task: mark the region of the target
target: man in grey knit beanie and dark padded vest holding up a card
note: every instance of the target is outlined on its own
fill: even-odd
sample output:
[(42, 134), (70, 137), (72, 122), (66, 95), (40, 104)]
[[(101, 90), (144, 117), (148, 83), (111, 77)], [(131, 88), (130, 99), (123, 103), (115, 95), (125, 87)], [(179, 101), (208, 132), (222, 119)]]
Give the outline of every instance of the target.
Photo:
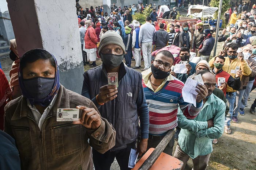
[[(137, 152), (142, 155), (147, 149), (149, 117), (142, 75), (123, 63), (125, 45), (115, 31), (102, 35), (98, 51), (102, 65), (84, 73), (82, 95), (93, 101), (117, 135), (116, 145), (105, 154), (93, 149), (95, 170), (109, 170), (115, 157), (120, 169), (128, 170), (129, 154), (136, 149), (139, 135)], [(108, 85), (108, 73), (118, 73), (118, 86)]]

